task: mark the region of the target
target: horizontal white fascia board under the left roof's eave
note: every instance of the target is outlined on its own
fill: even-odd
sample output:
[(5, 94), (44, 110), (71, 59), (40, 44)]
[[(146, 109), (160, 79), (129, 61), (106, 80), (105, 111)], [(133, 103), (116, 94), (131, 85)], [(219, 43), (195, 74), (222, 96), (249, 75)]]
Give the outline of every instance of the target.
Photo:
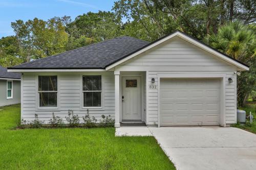
[(8, 72), (102, 72), (105, 69), (8, 69)]

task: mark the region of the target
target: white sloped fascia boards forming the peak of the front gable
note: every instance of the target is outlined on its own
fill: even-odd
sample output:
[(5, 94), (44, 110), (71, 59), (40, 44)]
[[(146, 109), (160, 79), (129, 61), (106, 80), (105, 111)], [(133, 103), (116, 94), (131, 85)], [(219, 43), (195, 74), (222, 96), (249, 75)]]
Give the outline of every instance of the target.
[(235, 66), (237, 66), (241, 70), (249, 70), (249, 67), (247, 67), (247, 66), (245, 66), (245, 65), (243, 65), (243, 64), (241, 64), (241, 63), (239, 63), (237, 61), (234, 61), (234, 60), (228, 58), (227, 56), (225, 56), (225, 55), (223, 55), (223, 54), (221, 54), (221, 53), (219, 53), (219, 52), (217, 52), (215, 50), (212, 50), (210, 47), (208, 47), (208, 46), (206, 46), (206, 45), (204, 45), (204, 44), (202, 44), (202, 43), (200, 43), (200, 42), (198, 42), (198, 41), (196, 41), (196, 40), (194, 40), (194, 39), (192, 39), (192, 38), (190, 38), (190, 37), (188, 37), (188, 36), (186, 36), (186, 35), (184, 35), (184, 34), (182, 34), (180, 32), (176, 32), (174, 34), (171, 34), (171, 35), (169, 35), (169, 36), (167, 36), (167, 37), (165, 37), (165, 38), (163, 38), (163, 39), (161, 39), (161, 40), (159, 40), (159, 41), (157, 41), (157, 42), (155, 42), (155, 43), (153, 43), (151, 45), (148, 45), (147, 47), (143, 48), (142, 50), (140, 50), (140, 51), (138, 51), (138, 52), (136, 52), (136, 53), (134, 53), (134, 54), (132, 54), (130, 56), (127, 56), (124, 59), (122, 59), (122, 60), (120, 60), (120, 61), (118, 61), (116, 63), (113, 63), (112, 65), (106, 67), (106, 70), (114, 68), (115, 66), (117, 66), (117, 65), (119, 65), (119, 64), (121, 64), (121, 63), (123, 63), (123, 62), (125, 62), (127, 60), (130, 60), (133, 57), (138, 56), (139, 54), (141, 54), (141, 53), (143, 53), (143, 52), (145, 52), (147, 50), (150, 50), (151, 48), (153, 48), (153, 47), (155, 47), (155, 46), (157, 46), (157, 45), (159, 45), (159, 44), (161, 44), (161, 43), (163, 43), (163, 42), (165, 42), (165, 41), (167, 41), (170, 38), (173, 38), (175, 36), (178, 36), (178, 37), (180, 37), (180, 38), (182, 38), (182, 39), (184, 39), (184, 40), (186, 40), (186, 41), (188, 41), (188, 42), (190, 42), (190, 43), (192, 43), (192, 44), (202, 48), (203, 50), (205, 50), (205, 51), (207, 51), (207, 52), (209, 52), (209, 53), (211, 53), (211, 54), (213, 54), (213, 55), (215, 55), (215, 56), (217, 56), (217, 57), (219, 57), (219, 58), (221, 58), (221, 59), (223, 59), (223, 60), (225, 60), (225, 61), (227, 61), (227, 62), (229, 62), (229, 63), (231, 63), (233, 65), (235, 65)]

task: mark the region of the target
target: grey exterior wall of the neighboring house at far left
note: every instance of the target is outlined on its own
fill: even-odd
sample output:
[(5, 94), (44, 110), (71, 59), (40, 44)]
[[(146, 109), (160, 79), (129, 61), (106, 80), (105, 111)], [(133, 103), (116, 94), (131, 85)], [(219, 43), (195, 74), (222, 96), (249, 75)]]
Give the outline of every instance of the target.
[(7, 99), (7, 80), (0, 80), (0, 106), (20, 103), (20, 81), (13, 80), (13, 98)]

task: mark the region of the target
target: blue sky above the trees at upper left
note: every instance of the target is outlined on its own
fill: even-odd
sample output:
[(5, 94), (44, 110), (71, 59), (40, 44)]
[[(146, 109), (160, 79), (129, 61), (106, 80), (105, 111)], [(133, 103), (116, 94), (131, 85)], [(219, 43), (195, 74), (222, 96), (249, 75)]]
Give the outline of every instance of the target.
[(110, 11), (117, 0), (0, 0), (0, 38), (14, 35), (11, 22), (35, 17), (76, 16), (87, 12)]

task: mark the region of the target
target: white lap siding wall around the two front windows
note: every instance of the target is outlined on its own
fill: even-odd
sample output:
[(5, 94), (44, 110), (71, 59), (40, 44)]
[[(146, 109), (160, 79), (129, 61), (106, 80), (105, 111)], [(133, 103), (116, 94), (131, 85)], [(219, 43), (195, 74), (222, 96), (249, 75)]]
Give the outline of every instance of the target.
[[(38, 107), (38, 76), (39, 75), (57, 75), (58, 92), (57, 108), (42, 109)], [(80, 120), (87, 114), (87, 108), (83, 108), (82, 95), (82, 75), (101, 75), (102, 77), (102, 107), (88, 108), (89, 114), (95, 116), (98, 120), (101, 115), (115, 114), (115, 94), (114, 94), (114, 74), (113, 72), (37, 72), (24, 73), (22, 78), (22, 119), (30, 121), (37, 114), (40, 120), (48, 122), (52, 118), (52, 113), (61, 117), (63, 120), (68, 114), (68, 110), (73, 110), (78, 114)]]

